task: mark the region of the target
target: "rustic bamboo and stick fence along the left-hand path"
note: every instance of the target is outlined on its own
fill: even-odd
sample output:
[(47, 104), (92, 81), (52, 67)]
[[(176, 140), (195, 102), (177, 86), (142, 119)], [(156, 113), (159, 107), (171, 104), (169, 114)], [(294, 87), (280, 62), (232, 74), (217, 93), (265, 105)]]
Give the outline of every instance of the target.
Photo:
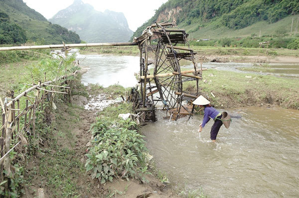
[[(76, 66), (78, 65), (79, 63), (76, 62)], [(24, 137), (24, 133), (29, 135), (35, 134), (36, 112), (43, 109), (45, 101), (48, 100), (50, 102), (49, 111), (51, 111), (55, 93), (66, 94), (70, 99), (69, 86), (53, 84), (59, 80), (64, 80), (63, 82), (69, 84), (67, 77), (76, 75), (76, 73), (77, 71), (70, 75), (60, 76), (51, 81), (38, 82), (37, 85), (31, 85), (30, 88), (16, 97), (13, 97), (12, 93), (11, 99), (5, 98), (4, 102), (0, 98), (0, 107), (2, 110), (2, 126), (0, 127), (0, 184), (5, 179), (4, 170), (6, 175), (13, 175), (13, 171), (11, 171), (10, 167), (15, 160), (10, 159), (9, 152), (13, 149), (25, 152), (24, 146), (28, 145), (28, 141)], [(51, 88), (49, 89), (48, 87)], [(59, 91), (54, 90), (57, 88), (59, 88)], [(33, 92), (34, 96), (32, 96), (33, 94), (29, 95), (29, 92)], [(22, 109), (20, 105), (21, 99), (25, 101), (25, 107)], [(3, 185), (5, 189), (8, 189), (7, 182)]]

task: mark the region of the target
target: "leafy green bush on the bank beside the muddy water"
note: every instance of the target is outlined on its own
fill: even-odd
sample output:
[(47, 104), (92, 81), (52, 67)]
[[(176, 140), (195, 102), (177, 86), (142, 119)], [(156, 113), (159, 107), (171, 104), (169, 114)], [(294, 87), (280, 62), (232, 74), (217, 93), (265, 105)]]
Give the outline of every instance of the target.
[(112, 182), (113, 177), (142, 177), (140, 174), (147, 172), (143, 154), (145, 141), (137, 129), (137, 124), (130, 119), (113, 122), (108, 118), (97, 118), (91, 126), (95, 136), (85, 164), (92, 179), (103, 184)]

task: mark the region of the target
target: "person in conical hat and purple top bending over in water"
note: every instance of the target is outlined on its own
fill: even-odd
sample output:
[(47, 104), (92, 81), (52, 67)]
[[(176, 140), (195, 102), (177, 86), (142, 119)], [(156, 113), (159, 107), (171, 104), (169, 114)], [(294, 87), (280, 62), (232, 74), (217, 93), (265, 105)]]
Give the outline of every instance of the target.
[(204, 107), (204, 116), (203, 116), (203, 121), (199, 125), (199, 130), (198, 132), (201, 132), (202, 129), (205, 127), (207, 122), (210, 121), (210, 119), (214, 120), (214, 124), (211, 128), (211, 140), (212, 142), (216, 141), (217, 134), (220, 130), (220, 127), (222, 126), (222, 114), (211, 107), (210, 101), (205, 99), (202, 95), (200, 95), (196, 100), (193, 101), (194, 105), (199, 105), (200, 107)]

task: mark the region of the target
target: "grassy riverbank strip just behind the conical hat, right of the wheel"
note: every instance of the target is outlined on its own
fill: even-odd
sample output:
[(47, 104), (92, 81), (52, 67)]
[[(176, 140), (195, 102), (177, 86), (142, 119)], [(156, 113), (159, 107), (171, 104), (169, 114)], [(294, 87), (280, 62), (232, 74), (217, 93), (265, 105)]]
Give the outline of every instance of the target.
[[(208, 69), (200, 81), (200, 94), (217, 107), (279, 105), (299, 109), (298, 79), (219, 71)], [(194, 82), (185, 82), (184, 87), (194, 89)], [(212, 96), (211, 92), (215, 95)]]

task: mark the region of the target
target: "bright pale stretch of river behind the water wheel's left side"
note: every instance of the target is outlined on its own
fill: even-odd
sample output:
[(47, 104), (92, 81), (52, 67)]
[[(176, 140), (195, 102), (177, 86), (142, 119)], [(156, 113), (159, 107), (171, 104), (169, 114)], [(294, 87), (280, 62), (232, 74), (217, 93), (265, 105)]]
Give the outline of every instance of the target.
[(82, 83), (85, 85), (100, 84), (104, 87), (119, 83), (124, 87), (135, 86), (137, 83), (134, 73), (139, 67), (139, 57), (112, 55), (77, 55), (77, 59), (85, 60), (82, 66), (90, 69), (83, 74)]

